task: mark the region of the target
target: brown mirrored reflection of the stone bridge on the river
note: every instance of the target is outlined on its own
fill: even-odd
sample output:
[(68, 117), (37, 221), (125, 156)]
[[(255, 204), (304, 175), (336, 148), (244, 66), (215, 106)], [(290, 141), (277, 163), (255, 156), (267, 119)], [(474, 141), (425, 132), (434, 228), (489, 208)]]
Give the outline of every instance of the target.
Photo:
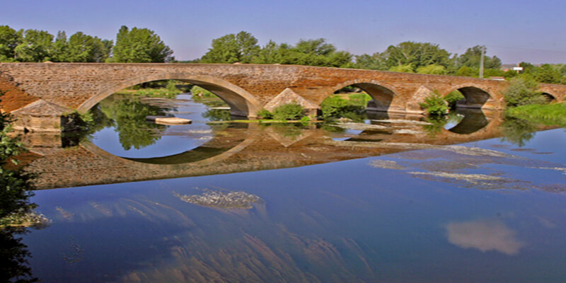
[(22, 159), (39, 174), (37, 187), (51, 189), (291, 168), (502, 137), (501, 112), (465, 114), (451, 129), (384, 113), (369, 115), (371, 124), (331, 127), (230, 124), (213, 127), (214, 138), (195, 149), (154, 158), (115, 156), (89, 141), (63, 148), (59, 134), (26, 134), (30, 153)]

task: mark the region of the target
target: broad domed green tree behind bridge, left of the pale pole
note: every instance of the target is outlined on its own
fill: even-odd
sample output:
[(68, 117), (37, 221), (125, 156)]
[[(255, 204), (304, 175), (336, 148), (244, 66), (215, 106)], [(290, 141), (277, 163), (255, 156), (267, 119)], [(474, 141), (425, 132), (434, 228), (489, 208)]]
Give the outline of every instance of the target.
[(448, 67), (451, 63), (448, 51), (428, 42), (401, 42), (387, 47), (381, 56), (385, 58), (389, 69), (402, 65), (411, 65), (417, 69), (431, 64)]

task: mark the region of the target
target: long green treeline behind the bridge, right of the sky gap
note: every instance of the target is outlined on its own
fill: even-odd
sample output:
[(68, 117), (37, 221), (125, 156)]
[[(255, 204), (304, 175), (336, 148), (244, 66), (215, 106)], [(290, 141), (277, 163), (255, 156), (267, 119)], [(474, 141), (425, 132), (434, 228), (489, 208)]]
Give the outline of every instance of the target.
[[(296, 45), (277, 44), (270, 40), (261, 47), (253, 35), (241, 31), (212, 40), (212, 46), (204, 56), (188, 62), (297, 64), (478, 77), (482, 53), (479, 45), (468, 48), (463, 54), (451, 54), (437, 44), (408, 41), (391, 45), (383, 52), (354, 55), (337, 50), (323, 38), (299, 40)], [(516, 71), (501, 69), (499, 57), (487, 57), (484, 53), (483, 59), (485, 77), (503, 76), (509, 79), (517, 76)], [(524, 67), (521, 76), (529, 76), (541, 83), (566, 83), (565, 64), (543, 64), (536, 67), (523, 62), (520, 66)]]

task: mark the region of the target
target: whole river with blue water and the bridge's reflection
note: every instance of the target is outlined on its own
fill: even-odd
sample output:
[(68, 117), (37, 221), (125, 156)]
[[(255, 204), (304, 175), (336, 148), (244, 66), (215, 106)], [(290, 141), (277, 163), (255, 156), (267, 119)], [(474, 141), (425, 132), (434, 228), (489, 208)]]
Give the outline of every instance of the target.
[[(106, 103), (87, 137), (24, 138), (52, 221), (23, 235), (42, 282), (566, 278), (565, 129), (478, 111), (221, 123), (189, 95)], [(156, 113), (193, 122), (139, 118)]]

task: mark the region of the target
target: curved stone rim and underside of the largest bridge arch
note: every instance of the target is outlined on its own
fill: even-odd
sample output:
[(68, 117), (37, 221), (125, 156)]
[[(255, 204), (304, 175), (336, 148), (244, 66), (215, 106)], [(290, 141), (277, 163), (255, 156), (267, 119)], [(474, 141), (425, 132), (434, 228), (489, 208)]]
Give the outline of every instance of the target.
[(255, 112), (260, 109), (260, 101), (255, 98), (252, 94), (248, 93), (248, 91), (244, 90), (243, 88), (230, 83), (229, 81), (225, 81), (223, 79), (216, 78), (214, 76), (207, 76), (207, 75), (193, 75), (193, 74), (185, 74), (185, 73), (161, 73), (161, 74), (151, 74), (148, 76), (139, 76), (129, 79), (127, 81), (122, 81), (121, 83), (117, 83), (109, 88), (106, 88), (104, 91), (100, 91), (95, 96), (91, 97), (90, 99), (86, 100), (83, 104), (79, 106), (77, 109), (79, 112), (87, 112), (91, 108), (93, 108), (96, 103), (99, 103), (104, 98), (112, 95), (116, 91), (120, 91), (124, 88), (129, 86), (134, 86), (139, 83), (146, 83), (148, 81), (161, 81), (173, 79), (177, 81), (184, 81), (187, 83), (192, 83), (197, 86), (201, 86), (202, 88), (211, 91), (212, 93), (216, 94), (221, 100), (224, 100), (226, 104), (230, 106), (231, 115), (234, 116), (242, 116), (242, 117), (255, 117)]

